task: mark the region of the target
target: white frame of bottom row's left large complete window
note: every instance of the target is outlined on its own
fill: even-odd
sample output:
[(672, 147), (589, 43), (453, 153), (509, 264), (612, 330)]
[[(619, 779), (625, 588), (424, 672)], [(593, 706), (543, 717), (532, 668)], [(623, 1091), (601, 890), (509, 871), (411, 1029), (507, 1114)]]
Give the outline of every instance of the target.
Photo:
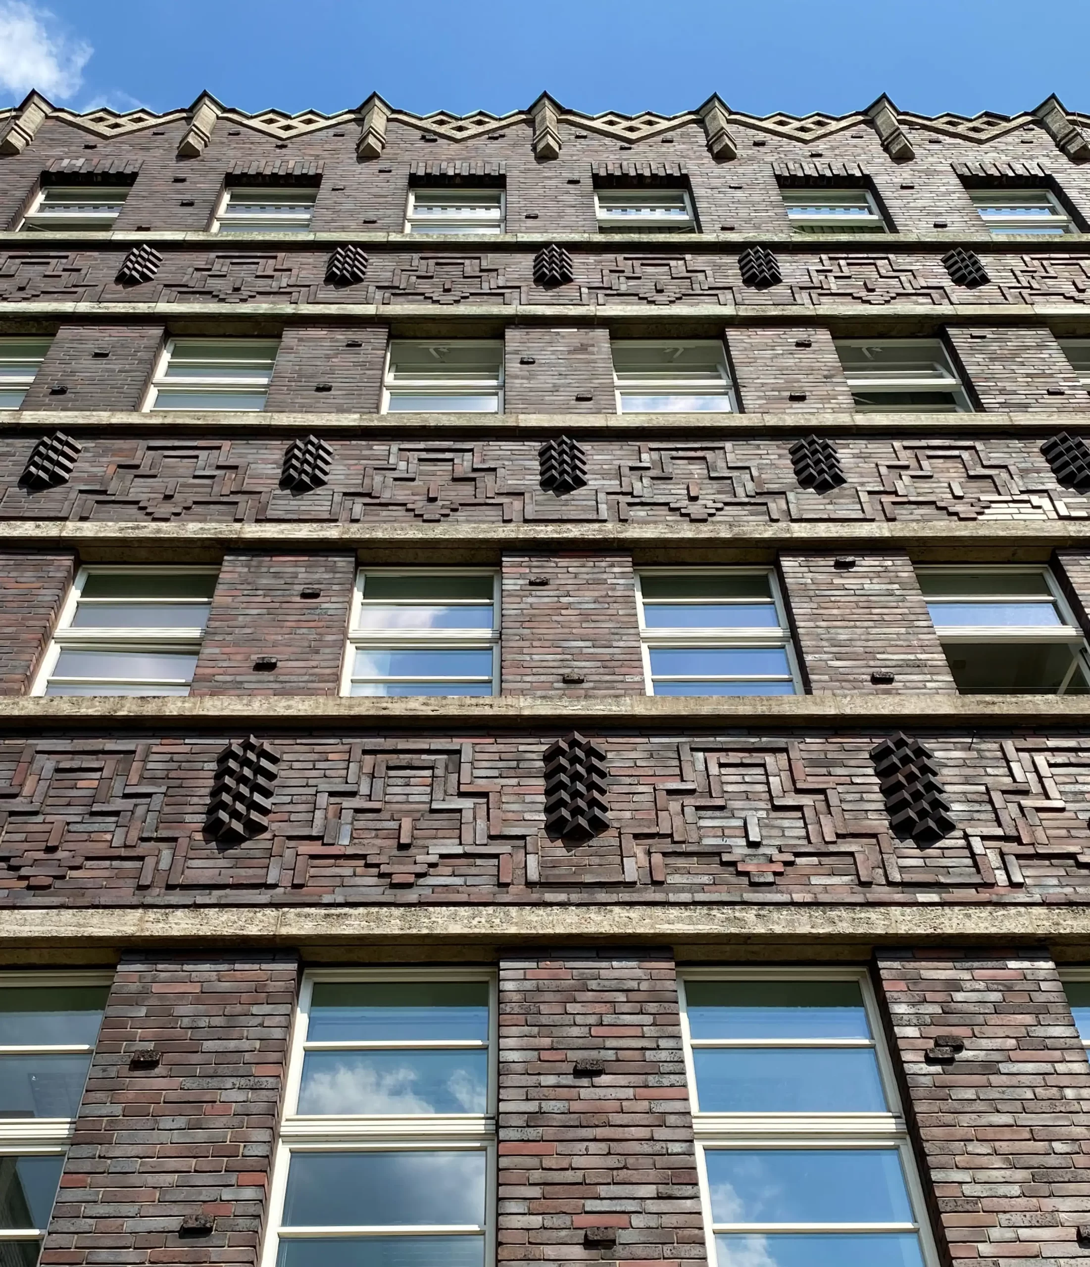
[[(345, 1116), (311, 1116), (295, 1114), (292, 1110), (299, 1102), (299, 1087), (303, 1077), (303, 1058), (305, 1052), (316, 1047), (324, 1049), (362, 1049), (362, 1048), (425, 1048), (425, 1047), (475, 1047), (474, 1043), (436, 1041), (346, 1041), (312, 1044), (307, 1041), (311, 997), (316, 982), (444, 982), (444, 981), (483, 981), (488, 982), (488, 1106), (484, 1114), (351, 1114)], [(497, 1164), (496, 1164), (496, 1112), (498, 1104), (498, 1005), (496, 973), (487, 968), (323, 968), (307, 972), (299, 995), (299, 1009), (292, 1038), (292, 1054), (288, 1066), (288, 1078), (284, 1093), (284, 1114), (278, 1133), (272, 1167), (272, 1183), (269, 1197), (269, 1232), (265, 1237), (265, 1251), (261, 1267), (276, 1267), (280, 1252), (280, 1238), (285, 1228), (280, 1221), (284, 1213), (284, 1199), (288, 1191), (288, 1169), (295, 1153), (323, 1152), (483, 1152), (485, 1154), (485, 1201), (484, 1201), (484, 1262), (496, 1261), (496, 1210), (497, 1210)], [(350, 1235), (389, 1235), (403, 1232), (411, 1235), (478, 1235), (482, 1229), (442, 1224), (411, 1224), (395, 1226), (321, 1226), (290, 1228), (285, 1239), (318, 1237), (345, 1238)]]

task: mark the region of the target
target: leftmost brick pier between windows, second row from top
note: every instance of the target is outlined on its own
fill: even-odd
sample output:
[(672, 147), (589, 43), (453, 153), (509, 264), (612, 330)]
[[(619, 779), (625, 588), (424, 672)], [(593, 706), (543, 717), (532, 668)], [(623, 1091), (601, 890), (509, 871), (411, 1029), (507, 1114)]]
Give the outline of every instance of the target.
[(138, 409), (162, 341), (161, 326), (62, 326), (23, 408)]

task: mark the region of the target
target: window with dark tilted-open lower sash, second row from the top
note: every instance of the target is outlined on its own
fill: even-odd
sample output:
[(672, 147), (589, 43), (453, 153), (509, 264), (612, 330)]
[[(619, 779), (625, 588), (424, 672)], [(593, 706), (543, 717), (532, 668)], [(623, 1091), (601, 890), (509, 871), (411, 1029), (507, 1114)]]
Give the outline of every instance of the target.
[(967, 413), (961, 379), (937, 338), (838, 338), (856, 408), (864, 413)]

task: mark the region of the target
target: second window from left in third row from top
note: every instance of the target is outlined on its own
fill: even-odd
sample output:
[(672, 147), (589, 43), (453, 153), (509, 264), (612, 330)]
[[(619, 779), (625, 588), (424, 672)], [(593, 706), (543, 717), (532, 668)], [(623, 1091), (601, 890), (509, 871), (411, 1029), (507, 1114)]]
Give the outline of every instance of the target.
[(343, 693), (494, 694), (497, 584), (490, 571), (361, 571)]

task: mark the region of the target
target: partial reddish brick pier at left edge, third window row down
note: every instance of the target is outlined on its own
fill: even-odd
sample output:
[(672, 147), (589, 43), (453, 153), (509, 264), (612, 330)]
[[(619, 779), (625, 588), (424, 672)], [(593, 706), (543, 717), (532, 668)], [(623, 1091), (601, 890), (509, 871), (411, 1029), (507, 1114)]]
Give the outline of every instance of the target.
[(29, 689), (72, 574), (68, 552), (0, 552), (0, 694)]

